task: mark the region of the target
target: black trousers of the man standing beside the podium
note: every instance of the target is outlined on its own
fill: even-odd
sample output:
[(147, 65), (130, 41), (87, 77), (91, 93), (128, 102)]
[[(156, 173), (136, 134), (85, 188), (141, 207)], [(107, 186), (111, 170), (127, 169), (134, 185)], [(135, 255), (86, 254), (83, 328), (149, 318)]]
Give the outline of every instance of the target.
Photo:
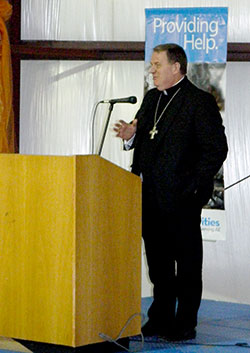
[(202, 295), (201, 207), (195, 200), (164, 212), (143, 191), (142, 235), (154, 301), (149, 319), (161, 328), (197, 325)]

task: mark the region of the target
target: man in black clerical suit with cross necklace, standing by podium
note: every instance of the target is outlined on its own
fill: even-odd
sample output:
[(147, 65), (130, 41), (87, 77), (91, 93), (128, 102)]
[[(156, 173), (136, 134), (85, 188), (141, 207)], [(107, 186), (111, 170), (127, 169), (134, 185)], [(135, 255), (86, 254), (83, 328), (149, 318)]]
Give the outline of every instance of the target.
[(186, 77), (187, 58), (176, 44), (154, 48), (154, 89), (132, 123), (114, 130), (134, 148), (132, 172), (142, 177), (142, 235), (154, 301), (146, 336), (196, 336), (202, 295), (200, 216), (213, 178), (227, 155), (214, 97)]

